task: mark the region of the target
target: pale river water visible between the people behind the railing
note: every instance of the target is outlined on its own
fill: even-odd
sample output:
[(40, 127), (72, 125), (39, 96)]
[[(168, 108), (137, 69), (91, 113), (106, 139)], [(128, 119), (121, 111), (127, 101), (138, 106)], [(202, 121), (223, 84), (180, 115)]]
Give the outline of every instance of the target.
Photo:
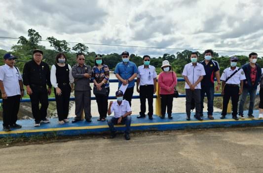
[[(117, 79), (115, 77), (114, 74), (111, 74), (110, 79)], [(90, 84), (90, 86), (93, 88), (93, 83)], [(118, 89), (118, 83), (110, 83), (110, 96), (114, 96), (116, 90)], [(136, 90), (136, 84), (134, 87), (134, 92), (133, 95), (139, 95), (139, 93)], [(94, 97), (93, 92), (91, 91), (91, 96)], [(155, 113), (155, 100), (153, 99), (153, 114)], [(109, 102), (112, 100), (109, 100)], [(114, 100), (113, 100), (114, 101)], [(140, 112), (140, 99), (132, 99), (132, 114), (135, 115), (139, 115)], [(147, 111), (148, 111), (148, 103), (146, 102), (146, 107), (147, 107)], [(186, 98), (174, 98), (173, 101), (173, 113), (184, 113), (186, 112)], [(204, 112), (206, 112), (207, 110), (207, 104), (204, 103)], [(221, 112), (222, 110), (219, 108), (214, 107), (214, 111), (215, 112)], [(148, 112), (146, 112), (147, 114)], [(97, 107), (97, 103), (96, 100), (91, 100), (91, 115), (93, 117), (98, 117), (99, 116), (99, 112), (98, 112), (98, 107)], [(70, 112), (69, 112), (69, 117), (75, 117), (75, 104), (71, 107)]]

